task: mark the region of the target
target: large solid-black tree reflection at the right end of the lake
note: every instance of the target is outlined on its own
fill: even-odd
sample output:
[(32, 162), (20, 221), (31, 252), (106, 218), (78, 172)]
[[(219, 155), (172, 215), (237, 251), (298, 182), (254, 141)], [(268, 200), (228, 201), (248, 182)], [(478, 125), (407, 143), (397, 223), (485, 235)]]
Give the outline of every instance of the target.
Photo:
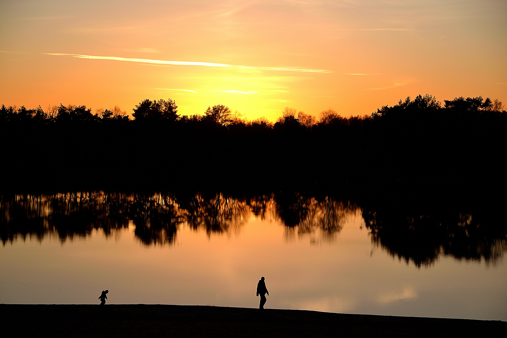
[(507, 227), (501, 213), (434, 212), (418, 214), (391, 208), (363, 208), (374, 244), (415, 266), (429, 266), (441, 255), (495, 261), (507, 251)]

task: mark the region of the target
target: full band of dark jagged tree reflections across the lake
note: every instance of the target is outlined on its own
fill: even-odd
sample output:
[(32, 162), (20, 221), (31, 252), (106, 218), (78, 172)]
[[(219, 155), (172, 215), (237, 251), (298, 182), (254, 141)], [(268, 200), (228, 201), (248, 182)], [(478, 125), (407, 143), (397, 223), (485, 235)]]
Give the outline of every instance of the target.
[(330, 241), (357, 210), (374, 245), (417, 267), (430, 266), (442, 255), (494, 264), (507, 251), (507, 223), (499, 211), (450, 208), (422, 213), (300, 193), (5, 195), (0, 196), (0, 240), (5, 245), (27, 237), (42, 241), (53, 236), (63, 243), (98, 229), (112, 236), (130, 223), (143, 245), (172, 245), (182, 225), (205, 231), (208, 237), (231, 235), (253, 216), (283, 224), (287, 239), (319, 231)]

